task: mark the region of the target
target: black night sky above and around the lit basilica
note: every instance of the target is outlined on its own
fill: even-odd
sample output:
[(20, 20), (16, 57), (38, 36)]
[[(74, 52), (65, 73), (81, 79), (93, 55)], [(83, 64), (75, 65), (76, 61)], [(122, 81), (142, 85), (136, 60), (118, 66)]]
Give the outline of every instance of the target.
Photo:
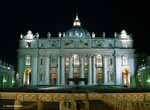
[(0, 59), (16, 66), (20, 33), (32, 30), (39, 32), (40, 37), (45, 37), (48, 31), (57, 35), (71, 28), (76, 12), (82, 27), (89, 32), (98, 36), (105, 31), (112, 37), (113, 32), (126, 29), (133, 35), (136, 52), (150, 52), (150, 6), (144, 0), (41, 1), (0, 3)]

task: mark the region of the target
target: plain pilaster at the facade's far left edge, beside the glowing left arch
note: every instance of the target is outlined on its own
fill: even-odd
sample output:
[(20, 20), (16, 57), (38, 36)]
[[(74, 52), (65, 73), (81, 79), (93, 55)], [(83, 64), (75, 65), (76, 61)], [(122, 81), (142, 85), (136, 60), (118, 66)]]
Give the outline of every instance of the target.
[(18, 56), (18, 74), (19, 74), (18, 85), (19, 86), (23, 86), (24, 64), (25, 64), (24, 56), (23, 55), (19, 55)]

